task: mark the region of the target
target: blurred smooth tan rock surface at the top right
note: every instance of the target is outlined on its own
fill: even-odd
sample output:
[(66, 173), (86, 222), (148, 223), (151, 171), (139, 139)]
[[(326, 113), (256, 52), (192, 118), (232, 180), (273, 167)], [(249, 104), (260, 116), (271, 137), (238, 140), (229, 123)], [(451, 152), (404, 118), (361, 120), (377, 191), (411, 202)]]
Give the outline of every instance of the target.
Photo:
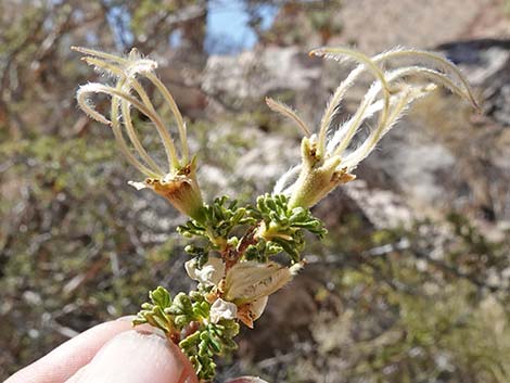
[(356, 43), (371, 54), (395, 46), (431, 48), (461, 38), (492, 2), (345, 0), (337, 15), (342, 34), (331, 44)]

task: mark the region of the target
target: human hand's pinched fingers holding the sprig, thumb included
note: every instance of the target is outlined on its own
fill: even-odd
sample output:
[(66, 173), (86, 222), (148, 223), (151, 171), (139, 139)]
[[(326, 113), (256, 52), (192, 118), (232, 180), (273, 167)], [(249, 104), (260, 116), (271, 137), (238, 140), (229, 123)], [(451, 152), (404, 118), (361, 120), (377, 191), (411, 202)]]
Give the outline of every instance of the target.
[(77, 335), (4, 383), (197, 383), (188, 358), (150, 327), (105, 322)]

